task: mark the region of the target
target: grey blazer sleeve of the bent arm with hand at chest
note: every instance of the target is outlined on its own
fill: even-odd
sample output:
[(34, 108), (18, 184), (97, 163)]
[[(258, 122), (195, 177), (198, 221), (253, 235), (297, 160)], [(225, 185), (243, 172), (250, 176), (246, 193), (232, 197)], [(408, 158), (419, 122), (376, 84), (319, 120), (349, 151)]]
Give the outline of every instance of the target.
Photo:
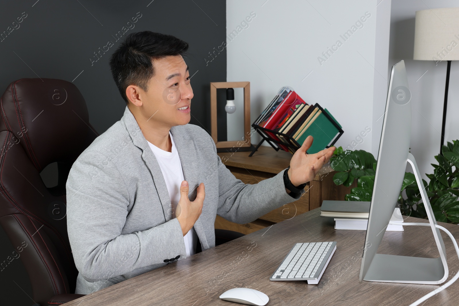
[(117, 167), (98, 152), (84, 152), (67, 183), (67, 230), (75, 265), (88, 281), (106, 280), (137, 268), (186, 257), (177, 218), (122, 234), (129, 195)]

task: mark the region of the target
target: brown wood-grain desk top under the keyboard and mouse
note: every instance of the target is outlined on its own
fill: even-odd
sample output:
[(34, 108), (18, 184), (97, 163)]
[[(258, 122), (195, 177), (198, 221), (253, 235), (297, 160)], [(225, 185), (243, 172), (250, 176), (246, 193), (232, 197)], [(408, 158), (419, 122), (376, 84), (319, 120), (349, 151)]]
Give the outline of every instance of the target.
[[(408, 217), (405, 222), (426, 222)], [(436, 285), (358, 282), (365, 231), (335, 230), (332, 218), (308, 211), (268, 229), (205, 250), (165, 267), (130, 278), (66, 304), (66, 306), (242, 305), (218, 298), (234, 287), (257, 289), (269, 296), (269, 305), (409, 305), (436, 289)], [(459, 226), (441, 223), (459, 237)], [(404, 232), (386, 232), (379, 253), (437, 257), (429, 228), (405, 226)], [(450, 276), (459, 261), (446, 234)], [(337, 249), (319, 284), (306, 281), (270, 281), (291, 246), (297, 242), (337, 241)], [(423, 304), (458, 305), (459, 282)]]

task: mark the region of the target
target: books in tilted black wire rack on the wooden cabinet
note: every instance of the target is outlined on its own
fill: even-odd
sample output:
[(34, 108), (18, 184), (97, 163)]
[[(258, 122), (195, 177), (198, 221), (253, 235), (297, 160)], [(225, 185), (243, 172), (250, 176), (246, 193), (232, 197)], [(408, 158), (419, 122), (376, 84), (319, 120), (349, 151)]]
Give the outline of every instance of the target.
[(317, 103), (308, 105), (289, 87), (279, 90), (252, 127), (263, 137), (255, 150), (266, 140), (274, 149), (291, 153), (295, 153), (309, 135), (314, 138), (308, 149), (311, 154), (334, 145), (343, 133), (341, 125), (326, 108)]

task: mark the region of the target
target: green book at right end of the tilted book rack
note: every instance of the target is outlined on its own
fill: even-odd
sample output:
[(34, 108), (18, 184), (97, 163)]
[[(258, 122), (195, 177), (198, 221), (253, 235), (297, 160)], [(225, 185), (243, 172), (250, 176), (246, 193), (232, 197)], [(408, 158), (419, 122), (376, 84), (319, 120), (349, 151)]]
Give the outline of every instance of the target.
[(321, 113), (296, 140), (299, 145), (302, 145), (306, 137), (313, 136), (313, 145), (308, 150), (308, 154), (313, 154), (324, 150), (338, 133), (336, 126)]

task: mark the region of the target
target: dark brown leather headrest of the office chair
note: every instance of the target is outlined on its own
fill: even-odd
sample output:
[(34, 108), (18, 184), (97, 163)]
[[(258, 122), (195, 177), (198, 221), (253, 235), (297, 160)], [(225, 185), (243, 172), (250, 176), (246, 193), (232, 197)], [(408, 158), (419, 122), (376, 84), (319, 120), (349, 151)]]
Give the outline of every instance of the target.
[(55, 161), (73, 162), (98, 136), (86, 102), (71, 82), (19, 79), (8, 85), (0, 107), (0, 131), (14, 135), (9, 144), (1, 144), (1, 152), (7, 145), (21, 145), (39, 172)]

